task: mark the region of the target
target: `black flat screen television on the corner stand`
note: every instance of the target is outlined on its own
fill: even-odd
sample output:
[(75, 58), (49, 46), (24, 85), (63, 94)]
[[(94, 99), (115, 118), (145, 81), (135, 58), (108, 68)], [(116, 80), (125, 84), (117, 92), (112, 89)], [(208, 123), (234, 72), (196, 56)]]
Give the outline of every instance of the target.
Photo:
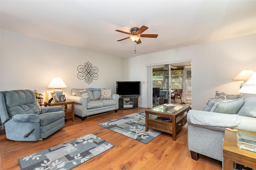
[(116, 94), (122, 97), (140, 96), (140, 81), (116, 81)]

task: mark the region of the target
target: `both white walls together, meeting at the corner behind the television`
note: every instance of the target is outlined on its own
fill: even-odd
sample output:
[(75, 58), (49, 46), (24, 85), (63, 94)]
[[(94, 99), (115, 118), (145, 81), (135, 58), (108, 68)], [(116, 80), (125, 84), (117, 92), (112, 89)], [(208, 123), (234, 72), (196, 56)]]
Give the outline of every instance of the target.
[[(243, 69), (256, 71), (256, 34), (202, 43), (138, 57), (121, 59), (89, 50), (52, 43), (1, 30), (0, 91), (37, 89), (44, 93), (53, 77), (67, 88), (105, 87), (116, 92), (116, 81), (147, 81), (146, 65), (192, 60), (192, 107), (200, 110), (215, 91), (238, 94), (241, 81), (232, 79)], [(98, 67), (93, 83), (78, 79), (77, 67), (89, 61)], [(139, 107), (147, 107), (147, 86), (142, 83)]]

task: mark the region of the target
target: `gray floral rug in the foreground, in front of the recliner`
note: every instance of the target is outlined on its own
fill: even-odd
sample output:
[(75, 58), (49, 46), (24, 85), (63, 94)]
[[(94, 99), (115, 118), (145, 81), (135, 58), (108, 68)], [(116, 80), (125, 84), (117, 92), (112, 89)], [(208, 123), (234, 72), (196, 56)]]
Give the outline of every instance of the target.
[(18, 160), (21, 170), (70, 170), (114, 147), (88, 134)]

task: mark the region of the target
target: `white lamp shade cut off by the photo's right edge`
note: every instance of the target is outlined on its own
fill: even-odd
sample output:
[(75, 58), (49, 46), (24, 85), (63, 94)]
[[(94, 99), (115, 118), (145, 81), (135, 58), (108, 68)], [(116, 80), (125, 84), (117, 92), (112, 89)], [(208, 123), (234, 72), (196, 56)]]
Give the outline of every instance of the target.
[(250, 77), (250, 79), (248, 79), (238, 92), (256, 94), (256, 72)]

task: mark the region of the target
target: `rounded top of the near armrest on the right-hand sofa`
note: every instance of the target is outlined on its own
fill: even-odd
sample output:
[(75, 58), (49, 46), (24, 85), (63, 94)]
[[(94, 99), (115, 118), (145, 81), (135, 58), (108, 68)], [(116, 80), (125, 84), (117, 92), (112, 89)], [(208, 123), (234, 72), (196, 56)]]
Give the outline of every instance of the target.
[(188, 111), (187, 121), (190, 125), (236, 127), (240, 124), (240, 117), (224, 113), (190, 110)]

